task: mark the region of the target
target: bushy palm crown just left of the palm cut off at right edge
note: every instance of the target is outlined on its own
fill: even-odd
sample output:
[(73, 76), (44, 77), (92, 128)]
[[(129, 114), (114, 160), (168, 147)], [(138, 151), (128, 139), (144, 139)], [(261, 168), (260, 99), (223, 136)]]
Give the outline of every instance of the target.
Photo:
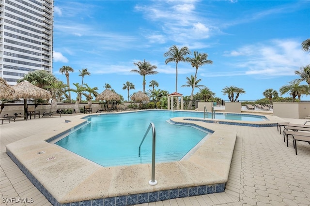
[[(309, 87), (306, 85), (300, 85), (300, 82), (300, 79), (290, 81), (288, 85), (284, 85), (279, 89), (280, 94), (283, 95), (289, 93), (293, 97), (293, 102), (295, 102), (296, 97), (300, 100), (302, 94), (309, 94)], [(308, 91), (306, 91), (307, 89)]]

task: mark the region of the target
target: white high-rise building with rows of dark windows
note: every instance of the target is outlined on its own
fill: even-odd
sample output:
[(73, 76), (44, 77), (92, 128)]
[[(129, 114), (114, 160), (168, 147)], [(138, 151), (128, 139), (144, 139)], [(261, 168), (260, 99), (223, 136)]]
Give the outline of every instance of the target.
[(52, 72), (53, 0), (0, 0), (0, 77)]

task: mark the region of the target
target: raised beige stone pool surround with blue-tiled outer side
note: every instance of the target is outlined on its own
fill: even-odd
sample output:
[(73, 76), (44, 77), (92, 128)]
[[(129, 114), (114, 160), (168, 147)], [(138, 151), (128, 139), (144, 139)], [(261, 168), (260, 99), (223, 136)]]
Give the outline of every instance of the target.
[(207, 124), (215, 132), (188, 160), (157, 163), (158, 184), (150, 186), (151, 164), (102, 167), (46, 142), (85, 123), (83, 118), (88, 116), (66, 117), (67, 123), (58, 128), (7, 145), (11, 159), (53, 205), (133, 205), (225, 190), (235, 131), (219, 130), (217, 124), (177, 119), (178, 123)]

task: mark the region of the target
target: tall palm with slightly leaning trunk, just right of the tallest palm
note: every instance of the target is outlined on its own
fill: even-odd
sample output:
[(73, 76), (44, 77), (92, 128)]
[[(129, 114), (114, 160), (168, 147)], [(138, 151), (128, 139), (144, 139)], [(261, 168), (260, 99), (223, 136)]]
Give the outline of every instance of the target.
[(207, 54), (205, 54), (205, 53), (201, 54), (201, 53), (199, 53), (197, 51), (194, 51), (194, 57), (193, 58), (187, 57), (186, 61), (190, 62), (191, 66), (196, 68), (195, 81), (193, 81), (192, 92), (190, 94), (190, 100), (193, 100), (198, 68), (203, 66), (203, 65), (205, 65), (205, 64), (213, 64), (213, 61), (208, 59), (208, 55)]

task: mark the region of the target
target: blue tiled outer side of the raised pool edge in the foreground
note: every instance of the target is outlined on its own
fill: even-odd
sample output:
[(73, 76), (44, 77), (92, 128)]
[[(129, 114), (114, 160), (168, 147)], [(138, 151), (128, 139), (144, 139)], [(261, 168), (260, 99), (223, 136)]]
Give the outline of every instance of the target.
[(17, 160), (17, 158), (14, 156), (13, 153), (11, 153), (10, 150), (6, 149), (6, 153), (12, 159), (12, 161), (16, 163), (18, 168), (26, 175), (26, 177), (28, 177), (31, 183), (47, 198), (47, 200), (53, 206), (128, 206), (175, 198), (224, 192), (226, 186), (226, 183), (218, 183), (61, 204), (45, 189), (45, 187), (33, 175), (31, 175), (31, 172), (29, 172), (29, 170), (27, 170), (27, 168)]

